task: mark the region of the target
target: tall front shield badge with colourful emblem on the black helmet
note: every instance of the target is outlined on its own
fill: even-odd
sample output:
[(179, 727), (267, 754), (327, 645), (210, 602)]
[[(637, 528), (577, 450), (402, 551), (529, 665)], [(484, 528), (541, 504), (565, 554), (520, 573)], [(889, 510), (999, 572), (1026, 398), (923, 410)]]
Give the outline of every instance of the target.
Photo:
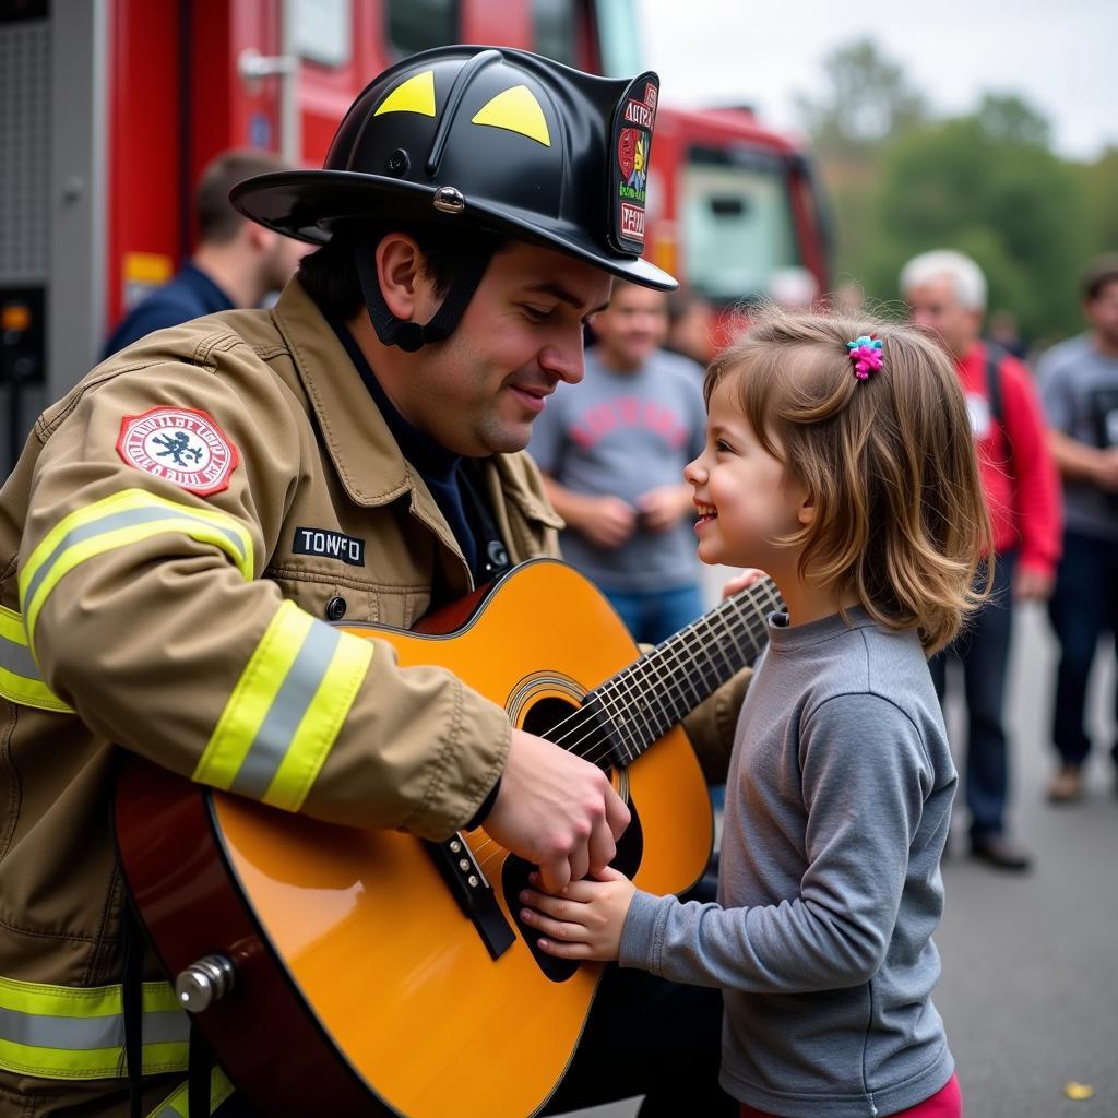
[(648, 155), (659, 94), (655, 74), (642, 74), (629, 83), (614, 113), (609, 241), (619, 252), (636, 256), (644, 252)]

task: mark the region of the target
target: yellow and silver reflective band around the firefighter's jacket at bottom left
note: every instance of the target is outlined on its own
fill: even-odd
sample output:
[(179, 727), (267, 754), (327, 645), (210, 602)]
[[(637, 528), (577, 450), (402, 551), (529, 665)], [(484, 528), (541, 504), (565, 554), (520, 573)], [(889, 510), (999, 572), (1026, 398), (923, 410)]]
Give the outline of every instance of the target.
[[(170, 983), (144, 983), (142, 1005), (143, 1073), (184, 1071), (190, 1021)], [(127, 1074), (121, 987), (0, 976), (0, 1068), (48, 1079)]]

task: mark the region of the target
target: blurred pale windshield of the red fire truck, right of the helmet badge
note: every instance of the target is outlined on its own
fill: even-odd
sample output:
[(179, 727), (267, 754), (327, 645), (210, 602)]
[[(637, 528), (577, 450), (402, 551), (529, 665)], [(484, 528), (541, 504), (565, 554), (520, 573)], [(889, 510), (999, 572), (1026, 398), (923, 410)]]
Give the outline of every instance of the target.
[(683, 171), (688, 282), (709, 299), (758, 299), (777, 268), (800, 263), (788, 178), (775, 159), (695, 150)]

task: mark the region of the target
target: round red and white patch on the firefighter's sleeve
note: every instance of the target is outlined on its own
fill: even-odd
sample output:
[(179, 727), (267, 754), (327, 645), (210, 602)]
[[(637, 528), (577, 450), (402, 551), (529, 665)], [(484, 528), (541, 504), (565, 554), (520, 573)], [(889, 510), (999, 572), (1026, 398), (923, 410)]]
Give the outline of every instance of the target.
[(199, 496), (227, 489), (240, 461), (212, 417), (193, 408), (152, 408), (142, 416), (125, 416), (116, 453), (130, 466)]

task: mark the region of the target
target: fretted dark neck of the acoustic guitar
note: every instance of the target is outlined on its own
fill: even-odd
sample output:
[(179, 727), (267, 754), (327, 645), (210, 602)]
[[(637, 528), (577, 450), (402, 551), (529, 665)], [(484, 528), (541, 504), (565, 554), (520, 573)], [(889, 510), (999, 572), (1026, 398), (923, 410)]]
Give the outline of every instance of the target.
[(586, 697), (609, 724), (627, 760), (681, 722), (768, 643), (766, 617), (784, 608), (776, 584), (762, 579), (727, 598)]

